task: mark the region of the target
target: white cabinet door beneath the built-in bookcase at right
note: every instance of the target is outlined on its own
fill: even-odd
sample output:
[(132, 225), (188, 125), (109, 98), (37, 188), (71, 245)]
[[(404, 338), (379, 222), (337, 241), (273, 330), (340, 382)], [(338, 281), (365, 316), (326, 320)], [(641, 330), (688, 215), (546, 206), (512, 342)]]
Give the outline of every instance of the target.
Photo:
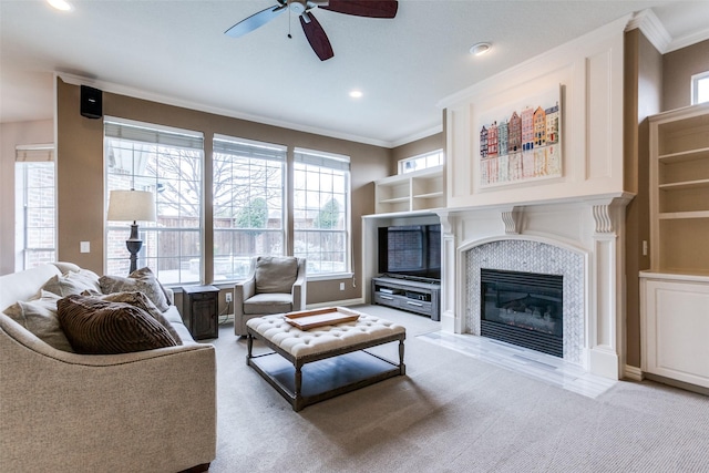
[(709, 285), (643, 280), (643, 370), (709, 388)]

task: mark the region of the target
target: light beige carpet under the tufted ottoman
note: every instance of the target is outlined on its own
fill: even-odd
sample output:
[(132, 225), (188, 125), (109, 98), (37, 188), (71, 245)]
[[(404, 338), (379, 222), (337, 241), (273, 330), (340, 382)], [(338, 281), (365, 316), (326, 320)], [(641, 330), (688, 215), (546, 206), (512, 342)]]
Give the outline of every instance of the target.
[[(619, 381), (595, 399), (421, 340), (407, 327), (407, 376), (294, 412), (219, 328), (220, 472), (709, 472), (709, 398)], [(380, 347), (395, 359), (395, 343)]]

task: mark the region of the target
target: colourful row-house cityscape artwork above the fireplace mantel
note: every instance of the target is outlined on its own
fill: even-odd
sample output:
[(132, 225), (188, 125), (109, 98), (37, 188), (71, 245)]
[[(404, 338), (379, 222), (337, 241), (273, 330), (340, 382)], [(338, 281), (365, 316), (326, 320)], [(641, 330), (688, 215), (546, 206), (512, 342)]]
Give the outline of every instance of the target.
[(561, 85), (518, 106), (481, 115), (482, 187), (562, 176)]

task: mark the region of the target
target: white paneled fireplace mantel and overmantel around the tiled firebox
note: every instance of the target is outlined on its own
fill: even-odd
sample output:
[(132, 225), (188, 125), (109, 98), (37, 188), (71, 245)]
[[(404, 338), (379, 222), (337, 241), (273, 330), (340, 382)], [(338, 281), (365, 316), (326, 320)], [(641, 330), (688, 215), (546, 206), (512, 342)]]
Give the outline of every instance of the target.
[[(575, 339), (569, 347), (565, 340), (565, 358), (595, 374), (623, 376), (625, 207), (633, 198), (624, 177), (624, 38), (631, 19), (620, 18), (439, 103), (445, 110), (448, 208), (436, 212), (443, 230), (444, 331), (476, 332), (465, 274), (481, 267), (467, 265), (469, 255), (480, 257), (475, 248), (503, 248), (499, 254), (536, 248), (566, 261), (578, 255), (580, 266), (553, 267), (540, 258), (499, 258), (481, 250), (505, 268), (530, 259), (527, 266), (536, 264), (538, 273), (562, 271), (583, 281), (574, 286), (583, 299), (574, 327), (583, 326), (583, 332), (571, 333)], [(483, 124), (534, 106), (527, 102), (553, 88), (559, 88), (561, 175), (507, 181), (502, 174), (499, 182), (483, 183), (481, 175), (489, 171), (481, 157)], [(580, 274), (572, 274), (572, 267)]]

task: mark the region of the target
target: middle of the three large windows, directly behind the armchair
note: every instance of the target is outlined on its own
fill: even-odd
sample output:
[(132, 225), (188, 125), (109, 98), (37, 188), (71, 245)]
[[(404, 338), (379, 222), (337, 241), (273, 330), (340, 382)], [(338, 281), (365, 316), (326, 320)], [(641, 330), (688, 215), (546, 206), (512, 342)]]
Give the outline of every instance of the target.
[(253, 255), (284, 255), (286, 147), (214, 138), (214, 280), (247, 276)]

